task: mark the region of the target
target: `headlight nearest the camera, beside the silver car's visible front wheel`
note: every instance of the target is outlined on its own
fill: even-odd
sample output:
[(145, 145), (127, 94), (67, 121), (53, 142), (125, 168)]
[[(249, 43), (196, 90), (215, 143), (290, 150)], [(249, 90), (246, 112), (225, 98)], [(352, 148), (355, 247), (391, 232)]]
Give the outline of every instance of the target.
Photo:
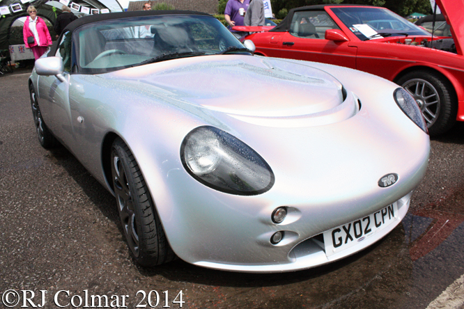
[(180, 147), (185, 170), (212, 189), (252, 196), (268, 191), (274, 173), (247, 144), (215, 127), (197, 127)]

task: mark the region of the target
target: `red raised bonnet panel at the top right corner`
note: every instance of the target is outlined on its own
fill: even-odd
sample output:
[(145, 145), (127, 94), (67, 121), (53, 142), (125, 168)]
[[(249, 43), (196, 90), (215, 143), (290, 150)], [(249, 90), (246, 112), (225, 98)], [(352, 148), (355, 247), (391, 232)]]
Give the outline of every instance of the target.
[(463, 54), (464, 40), (464, 0), (436, 0), (447, 23), (451, 25), (456, 52)]

